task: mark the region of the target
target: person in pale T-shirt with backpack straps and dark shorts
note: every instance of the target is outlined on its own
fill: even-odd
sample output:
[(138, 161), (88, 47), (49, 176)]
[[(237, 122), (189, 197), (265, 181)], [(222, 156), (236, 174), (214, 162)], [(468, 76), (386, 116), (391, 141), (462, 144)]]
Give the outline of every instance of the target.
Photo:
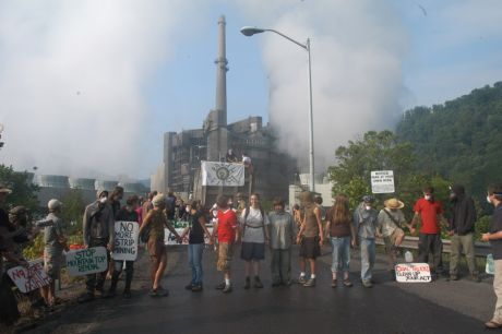
[(262, 288), (260, 279), (260, 261), (265, 259), (265, 243), (270, 242), (268, 217), (260, 204), (260, 195), (253, 193), (250, 198), (250, 206), (242, 211), (240, 216), (240, 230), (242, 235), (242, 248), (240, 258), (246, 261), (244, 289), (251, 287), (251, 272), (254, 274), (254, 287)]

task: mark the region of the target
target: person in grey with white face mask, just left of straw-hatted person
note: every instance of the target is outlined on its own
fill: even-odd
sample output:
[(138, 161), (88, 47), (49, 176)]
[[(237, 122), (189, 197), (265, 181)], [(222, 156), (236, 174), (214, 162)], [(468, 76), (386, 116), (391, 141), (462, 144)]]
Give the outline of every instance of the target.
[(373, 208), (374, 198), (364, 195), (362, 202), (354, 211), (354, 227), (356, 229), (357, 246), (361, 247), (361, 282), (362, 286), (373, 286), (372, 275), (375, 261), (376, 225), (379, 213)]

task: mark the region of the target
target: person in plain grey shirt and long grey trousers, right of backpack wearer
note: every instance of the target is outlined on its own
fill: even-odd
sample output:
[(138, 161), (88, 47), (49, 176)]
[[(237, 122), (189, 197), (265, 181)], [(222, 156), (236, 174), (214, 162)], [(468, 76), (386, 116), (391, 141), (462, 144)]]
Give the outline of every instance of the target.
[(272, 286), (291, 285), (291, 244), (295, 240), (292, 216), (284, 211), (284, 200), (274, 199), (274, 212), (268, 214), (271, 222)]

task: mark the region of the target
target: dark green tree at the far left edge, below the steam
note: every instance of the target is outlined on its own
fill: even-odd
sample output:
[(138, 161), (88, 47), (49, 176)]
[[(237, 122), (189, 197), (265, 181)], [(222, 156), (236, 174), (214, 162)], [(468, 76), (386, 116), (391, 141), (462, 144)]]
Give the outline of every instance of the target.
[(29, 181), (26, 171), (14, 171), (12, 166), (0, 165), (0, 183), (12, 190), (12, 193), (7, 196), (7, 208), (24, 205), (31, 212), (38, 210), (38, 187)]

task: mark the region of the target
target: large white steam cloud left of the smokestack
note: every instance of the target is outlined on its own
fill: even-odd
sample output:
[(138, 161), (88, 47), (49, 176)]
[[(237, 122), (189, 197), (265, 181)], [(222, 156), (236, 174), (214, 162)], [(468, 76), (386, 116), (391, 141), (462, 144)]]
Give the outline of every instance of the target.
[(0, 2), (1, 163), (43, 174), (138, 175), (153, 121), (147, 80), (172, 56), (175, 25), (192, 5)]

